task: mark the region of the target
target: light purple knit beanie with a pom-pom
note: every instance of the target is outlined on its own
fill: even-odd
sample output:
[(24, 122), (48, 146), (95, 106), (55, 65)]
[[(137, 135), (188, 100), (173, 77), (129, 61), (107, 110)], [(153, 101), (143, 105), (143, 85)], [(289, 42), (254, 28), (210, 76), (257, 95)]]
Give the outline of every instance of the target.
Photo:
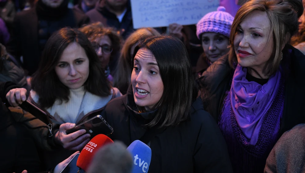
[(230, 38), (230, 30), (234, 20), (231, 14), (225, 12), (222, 6), (217, 11), (207, 13), (197, 23), (197, 37), (201, 40), (201, 34), (204, 32), (216, 32)]

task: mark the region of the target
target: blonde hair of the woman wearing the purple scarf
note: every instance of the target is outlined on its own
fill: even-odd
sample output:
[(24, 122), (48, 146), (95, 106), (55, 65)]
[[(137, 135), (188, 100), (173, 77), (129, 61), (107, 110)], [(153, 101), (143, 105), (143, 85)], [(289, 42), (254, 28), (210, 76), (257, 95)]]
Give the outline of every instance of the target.
[(282, 47), (298, 29), (298, 18), (303, 13), (303, 4), (301, 0), (250, 0), (242, 5), (235, 15), (230, 33), (229, 63), (233, 68), (237, 64), (233, 44), (236, 28), (254, 10), (266, 12), (270, 21), (274, 48), (263, 70), (265, 75), (270, 76), (279, 68)]

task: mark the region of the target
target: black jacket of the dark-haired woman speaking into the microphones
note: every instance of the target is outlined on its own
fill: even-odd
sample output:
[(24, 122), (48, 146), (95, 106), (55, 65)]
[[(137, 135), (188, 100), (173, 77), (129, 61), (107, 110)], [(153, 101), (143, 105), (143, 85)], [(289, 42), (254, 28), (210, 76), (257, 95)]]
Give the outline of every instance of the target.
[[(110, 135), (127, 146), (140, 139), (147, 119), (135, 113), (132, 88), (127, 94), (108, 103), (102, 116), (113, 127)], [(143, 113), (147, 114), (147, 113)], [(149, 113), (153, 117), (154, 113)], [(200, 98), (192, 104), (189, 118), (177, 126), (167, 127), (150, 138), (152, 158), (149, 173), (206, 172), (230, 173), (227, 146), (213, 118), (203, 110)]]

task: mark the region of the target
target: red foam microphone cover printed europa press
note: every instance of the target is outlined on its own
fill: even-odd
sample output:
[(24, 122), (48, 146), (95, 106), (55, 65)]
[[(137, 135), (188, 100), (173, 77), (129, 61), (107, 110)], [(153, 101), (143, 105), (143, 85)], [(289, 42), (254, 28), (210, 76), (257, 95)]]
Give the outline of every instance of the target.
[(92, 161), (94, 154), (104, 145), (108, 143), (113, 143), (113, 141), (106, 135), (99, 134), (93, 137), (87, 144), (84, 146), (83, 150), (79, 154), (79, 157), (76, 162), (76, 166), (88, 171), (88, 167)]

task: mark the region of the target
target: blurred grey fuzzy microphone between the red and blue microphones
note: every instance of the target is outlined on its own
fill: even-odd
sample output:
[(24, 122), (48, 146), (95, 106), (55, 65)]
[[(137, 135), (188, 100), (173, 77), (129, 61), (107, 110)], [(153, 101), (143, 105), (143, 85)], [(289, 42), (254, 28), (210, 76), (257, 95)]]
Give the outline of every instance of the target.
[(133, 159), (122, 142), (103, 146), (95, 153), (87, 173), (131, 173)]

